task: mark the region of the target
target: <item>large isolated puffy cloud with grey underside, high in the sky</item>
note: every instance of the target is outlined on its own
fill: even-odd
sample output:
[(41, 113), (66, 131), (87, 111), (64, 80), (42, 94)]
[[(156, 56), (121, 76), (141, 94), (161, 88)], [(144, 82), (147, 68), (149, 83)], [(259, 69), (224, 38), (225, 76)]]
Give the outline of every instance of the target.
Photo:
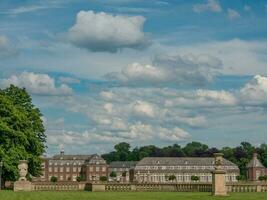
[(91, 51), (116, 52), (122, 48), (144, 48), (148, 40), (143, 32), (142, 16), (111, 15), (80, 11), (68, 38), (77, 47)]

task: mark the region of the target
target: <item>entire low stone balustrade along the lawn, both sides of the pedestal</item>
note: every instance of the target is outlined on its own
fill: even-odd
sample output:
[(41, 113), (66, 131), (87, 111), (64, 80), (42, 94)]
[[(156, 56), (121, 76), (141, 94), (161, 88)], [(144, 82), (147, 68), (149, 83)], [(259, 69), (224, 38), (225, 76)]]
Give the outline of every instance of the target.
[[(228, 192), (267, 192), (267, 182), (227, 183)], [(211, 183), (86, 183), (86, 182), (33, 182), (33, 191), (93, 192), (211, 192)]]

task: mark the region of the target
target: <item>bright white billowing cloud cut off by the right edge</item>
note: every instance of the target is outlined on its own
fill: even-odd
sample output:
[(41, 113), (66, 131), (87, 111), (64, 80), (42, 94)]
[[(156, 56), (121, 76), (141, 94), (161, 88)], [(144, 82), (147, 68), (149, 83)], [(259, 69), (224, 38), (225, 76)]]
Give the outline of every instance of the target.
[(240, 90), (243, 104), (267, 104), (267, 77), (256, 75)]

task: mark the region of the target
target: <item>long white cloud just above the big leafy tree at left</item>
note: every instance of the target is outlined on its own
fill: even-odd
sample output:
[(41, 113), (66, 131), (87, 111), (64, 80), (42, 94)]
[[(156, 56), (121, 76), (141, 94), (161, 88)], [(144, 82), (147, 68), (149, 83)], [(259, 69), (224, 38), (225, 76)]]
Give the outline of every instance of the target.
[(0, 79), (2, 87), (10, 84), (24, 87), (30, 93), (37, 95), (71, 95), (72, 89), (65, 84), (56, 86), (55, 80), (47, 74), (23, 72), (20, 75), (12, 75), (6, 79)]

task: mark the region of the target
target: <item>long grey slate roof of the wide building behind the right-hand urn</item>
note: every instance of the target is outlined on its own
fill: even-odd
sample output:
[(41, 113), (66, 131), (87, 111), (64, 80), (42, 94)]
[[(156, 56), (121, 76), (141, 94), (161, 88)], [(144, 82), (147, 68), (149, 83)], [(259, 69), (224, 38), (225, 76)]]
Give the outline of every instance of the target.
[[(229, 160), (223, 159), (224, 166), (236, 166)], [(136, 166), (213, 166), (213, 157), (146, 157)]]

